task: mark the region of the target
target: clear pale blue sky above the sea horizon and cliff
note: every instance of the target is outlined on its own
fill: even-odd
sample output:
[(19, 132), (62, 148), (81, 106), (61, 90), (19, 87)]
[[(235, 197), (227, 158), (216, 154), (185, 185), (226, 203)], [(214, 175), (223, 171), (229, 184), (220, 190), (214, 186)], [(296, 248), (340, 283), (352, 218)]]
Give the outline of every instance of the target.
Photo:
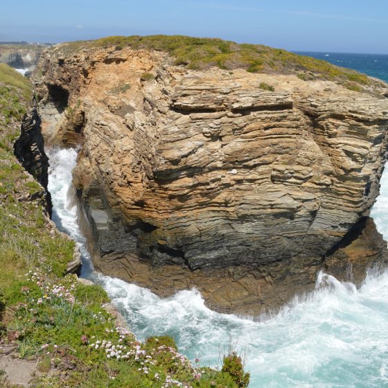
[(180, 34), (294, 51), (388, 54), (387, 0), (1, 2), (0, 41)]

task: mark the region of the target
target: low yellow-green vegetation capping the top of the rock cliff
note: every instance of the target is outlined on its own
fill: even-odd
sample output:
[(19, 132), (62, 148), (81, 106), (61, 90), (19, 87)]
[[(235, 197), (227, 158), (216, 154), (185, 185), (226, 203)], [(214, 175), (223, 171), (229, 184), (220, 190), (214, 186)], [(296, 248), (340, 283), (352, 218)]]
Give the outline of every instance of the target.
[(150, 35), (129, 37), (105, 37), (94, 41), (71, 42), (60, 47), (62, 53), (71, 53), (83, 47), (113, 46), (121, 50), (125, 46), (165, 51), (175, 57), (175, 64), (189, 69), (243, 68), (253, 73), (297, 73), (303, 79), (323, 78), (338, 82), (355, 82), (367, 85), (364, 74), (351, 69), (336, 67), (324, 60), (297, 55), (261, 44), (236, 44), (222, 39), (186, 37), (182, 35)]

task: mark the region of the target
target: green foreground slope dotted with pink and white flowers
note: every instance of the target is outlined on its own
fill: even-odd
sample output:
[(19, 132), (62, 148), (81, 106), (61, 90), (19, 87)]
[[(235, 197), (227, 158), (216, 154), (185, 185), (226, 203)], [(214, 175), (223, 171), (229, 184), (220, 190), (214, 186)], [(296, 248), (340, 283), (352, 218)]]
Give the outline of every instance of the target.
[(26, 78), (0, 65), (0, 342), (38, 360), (33, 387), (245, 387), (237, 355), (215, 371), (193, 367), (170, 337), (141, 344), (102, 308), (102, 288), (65, 275), (74, 243), (44, 217), (33, 200), (42, 187), (12, 152), (30, 94)]

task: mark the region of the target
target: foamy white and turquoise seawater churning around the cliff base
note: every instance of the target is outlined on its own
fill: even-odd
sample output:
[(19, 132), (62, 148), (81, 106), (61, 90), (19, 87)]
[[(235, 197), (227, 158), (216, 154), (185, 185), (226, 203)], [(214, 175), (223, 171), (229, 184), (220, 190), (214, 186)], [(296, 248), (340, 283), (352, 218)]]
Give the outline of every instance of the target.
[[(321, 273), (315, 292), (261, 321), (211, 311), (195, 290), (160, 299), (150, 290), (93, 272), (72, 198), (76, 156), (75, 150), (48, 152), (53, 220), (80, 247), (82, 275), (107, 290), (139, 339), (172, 335), (180, 351), (210, 365), (218, 364), (220, 349), (234, 340), (247, 351), (252, 388), (388, 387), (387, 273), (369, 274), (359, 290)], [(373, 210), (379, 212), (380, 228), (388, 212), (388, 175), (382, 193)]]

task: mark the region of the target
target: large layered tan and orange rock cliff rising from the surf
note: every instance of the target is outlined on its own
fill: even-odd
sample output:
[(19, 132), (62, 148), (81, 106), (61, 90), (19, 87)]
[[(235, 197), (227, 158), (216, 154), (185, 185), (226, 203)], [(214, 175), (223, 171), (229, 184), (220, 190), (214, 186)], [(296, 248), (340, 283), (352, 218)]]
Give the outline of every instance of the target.
[(54, 49), (39, 68), (46, 141), (82, 145), (74, 182), (96, 265), (159, 294), (196, 286), (225, 310), (279, 306), (378, 195), (382, 82), (373, 96), (130, 48)]

